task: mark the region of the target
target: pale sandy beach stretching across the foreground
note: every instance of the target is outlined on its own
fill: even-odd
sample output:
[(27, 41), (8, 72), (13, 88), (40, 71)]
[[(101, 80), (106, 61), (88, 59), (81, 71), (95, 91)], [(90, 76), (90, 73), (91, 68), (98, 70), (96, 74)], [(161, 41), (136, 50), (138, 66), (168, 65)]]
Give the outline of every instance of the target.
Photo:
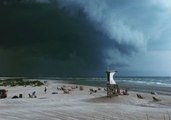
[[(0, 87), (7, 89), (8, 96), (0, 99), (0, 120), (170, 120), (171, 96), (151, 95), (129, 91), (129, 95), (106, 97), (103, 88), (83, 86), (83, 90), (71, 89), (69, 94), (57, 90), (74, 84), (47, 81), (41, 87)], [(45, 87), (47, 92), (44, 92)], [(89, 89), (97, 93), (90, 94)], [(36, 98), (28, 94), (36, 91)], [(53, 93), (53, 94), (52, 94)], [(23, 98), (11, 99), (22, 94)], [(144, 98), (137, 98), (141, 94)], [(152, 96), (160, 99), (154, 101)]]

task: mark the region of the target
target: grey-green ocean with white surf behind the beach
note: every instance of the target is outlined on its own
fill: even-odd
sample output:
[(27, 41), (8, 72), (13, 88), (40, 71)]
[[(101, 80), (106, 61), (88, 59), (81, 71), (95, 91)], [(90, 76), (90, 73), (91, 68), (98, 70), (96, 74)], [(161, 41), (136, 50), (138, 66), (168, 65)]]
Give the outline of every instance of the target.
[[(0, 77), (0, 79), (15, 79), (16, 77)], [(17, 77), (20, 78), (20, 77)], [(33, 79), (22, 77), (23, 79)], [(106, 87), (105, 77), (37, 77), (34, 79), (54, 80), (70, 84)], [(157, 92), (158, 94), (171, 95), (171, 77), (115, 77), (120, 88), (127, 88), (138, 92)]]

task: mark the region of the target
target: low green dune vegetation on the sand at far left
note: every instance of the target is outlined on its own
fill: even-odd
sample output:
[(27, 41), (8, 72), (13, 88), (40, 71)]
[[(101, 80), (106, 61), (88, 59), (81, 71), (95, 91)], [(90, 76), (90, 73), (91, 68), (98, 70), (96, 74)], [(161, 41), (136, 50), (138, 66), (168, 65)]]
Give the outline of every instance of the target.
[(41, 86), (43, 82), (38, 80), (23, 80), (23, 79), (6, 79), (0, 80), (0, 86)]

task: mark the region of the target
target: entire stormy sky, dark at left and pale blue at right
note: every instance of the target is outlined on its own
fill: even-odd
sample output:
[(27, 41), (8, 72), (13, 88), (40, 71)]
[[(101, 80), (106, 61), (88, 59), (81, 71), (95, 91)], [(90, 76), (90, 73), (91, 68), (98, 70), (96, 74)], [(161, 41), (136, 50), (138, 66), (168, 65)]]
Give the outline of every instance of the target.
[(0, 76), (171, 76), (170, 0), (2, 0)]

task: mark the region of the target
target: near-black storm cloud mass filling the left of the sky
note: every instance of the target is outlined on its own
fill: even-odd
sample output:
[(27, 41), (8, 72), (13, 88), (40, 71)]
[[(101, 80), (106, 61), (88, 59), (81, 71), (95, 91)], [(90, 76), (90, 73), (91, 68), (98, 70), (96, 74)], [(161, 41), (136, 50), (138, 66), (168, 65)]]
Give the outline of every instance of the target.
[(51, 4), (20, 3), (1, 11), (2, 75), (93, 75), (105, 67), (106, 37), (81, 10), (71, 16)]

